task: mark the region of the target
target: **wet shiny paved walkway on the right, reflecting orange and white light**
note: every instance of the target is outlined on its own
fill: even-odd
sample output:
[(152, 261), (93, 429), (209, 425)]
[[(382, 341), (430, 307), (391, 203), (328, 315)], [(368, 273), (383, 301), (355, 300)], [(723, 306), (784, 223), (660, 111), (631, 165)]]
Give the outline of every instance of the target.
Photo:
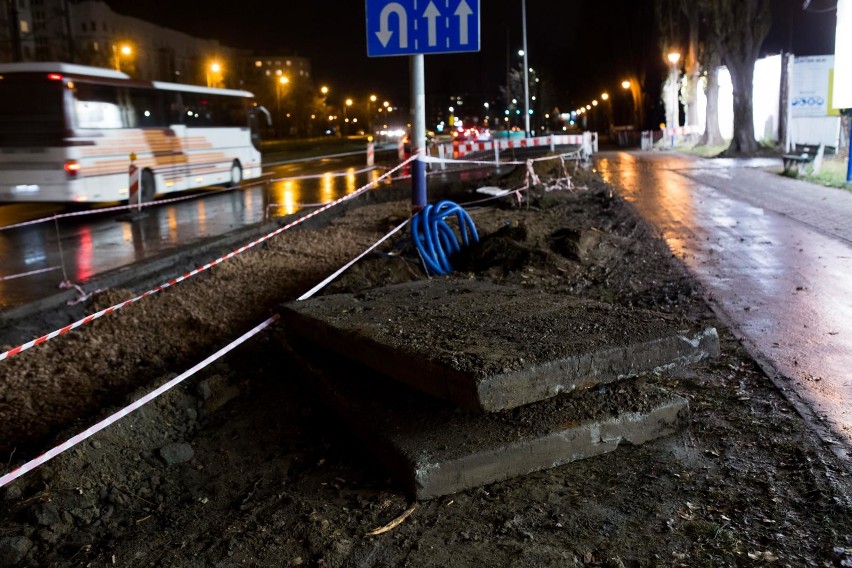
[(852, 194), (782, 177), (777, 158), (610, 152), (595, 164), (658, 228), (770, 376), (828, 426), (824, 438), (833, 434), (848, 452)]

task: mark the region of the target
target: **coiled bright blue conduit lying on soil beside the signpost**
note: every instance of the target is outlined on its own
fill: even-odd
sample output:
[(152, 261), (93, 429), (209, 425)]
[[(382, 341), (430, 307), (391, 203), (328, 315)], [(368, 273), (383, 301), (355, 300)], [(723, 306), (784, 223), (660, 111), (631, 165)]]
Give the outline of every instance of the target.
[(461, 250), (456, 234), (444, 220), (456, 216), (464, 246), (479, 242), (479, 233), (470, 215), (459, 204), (452, 201), (440, 201), (436, 205), (427, 205), (414, 216), (411, 223), (411, 237), (417, 247), (426, 272), (449, 274), (453, 271), (449, 258)]

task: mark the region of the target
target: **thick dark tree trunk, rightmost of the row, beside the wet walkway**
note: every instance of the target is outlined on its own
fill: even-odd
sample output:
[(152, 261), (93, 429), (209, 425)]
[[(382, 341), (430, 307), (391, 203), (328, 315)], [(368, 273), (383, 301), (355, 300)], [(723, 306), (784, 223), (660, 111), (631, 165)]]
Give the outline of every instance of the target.
[(726, 154), (753, 153), (754, 64), (772, 24), (770, 0), (702, 0), (718, 26), (722, 62), (734, 91), (734, 137)]

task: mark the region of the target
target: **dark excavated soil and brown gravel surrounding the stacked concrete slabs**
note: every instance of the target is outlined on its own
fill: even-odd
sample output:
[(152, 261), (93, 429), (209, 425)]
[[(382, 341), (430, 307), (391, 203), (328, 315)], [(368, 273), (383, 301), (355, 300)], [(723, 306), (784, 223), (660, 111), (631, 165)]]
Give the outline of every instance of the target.
[[(554, 187), (558, 162), (543, 164), (537, 173)], [(484, 185), (516, 188), (524, 177)], [(462, 191), (458, 201), (478, 197)], [(719, 357), (643, 379), (689, 401), (682, 434), (411, 502), (288, 368), (276, 324), (0, 489), (0, 568), (852, 565), (849, 464), (714, 317), (652, 229), (582, 169), (573, 188), (539, 184), (526, 197), (468, 209), (482, 239), (452, 277), (716, 327)], [(285, 232), (0, 362), (3, 461), (18, 465), (189, 369), (409, 208), (370, 203)], [(424, 278), (400, 237), (321, 293)], [(133, 295), (110, 290), (87, 309)], [(45, 315), (42, 329), (56, 318)]]

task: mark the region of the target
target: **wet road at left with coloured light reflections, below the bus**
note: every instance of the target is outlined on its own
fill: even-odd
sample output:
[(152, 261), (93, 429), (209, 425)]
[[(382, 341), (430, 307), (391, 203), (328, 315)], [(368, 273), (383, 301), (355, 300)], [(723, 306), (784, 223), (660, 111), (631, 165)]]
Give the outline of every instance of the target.
[[(0, 309), (55, 294), (66, 277), (86, 283), (177, 247), (351, 195), (382, 174), (364, 170), (345, 160), (281, 166), (266, 172), (277, 181), (245, 184), (233, 191), (207, 190), (182, 202), (147, 207), (138, 218), (117, 220), (114, 213), (94, 213), (0, 230)], [(313, 177), (284, 179), (303, 174)], [(7, 224), (21, 220), (20, 207), (0, 207)]]

